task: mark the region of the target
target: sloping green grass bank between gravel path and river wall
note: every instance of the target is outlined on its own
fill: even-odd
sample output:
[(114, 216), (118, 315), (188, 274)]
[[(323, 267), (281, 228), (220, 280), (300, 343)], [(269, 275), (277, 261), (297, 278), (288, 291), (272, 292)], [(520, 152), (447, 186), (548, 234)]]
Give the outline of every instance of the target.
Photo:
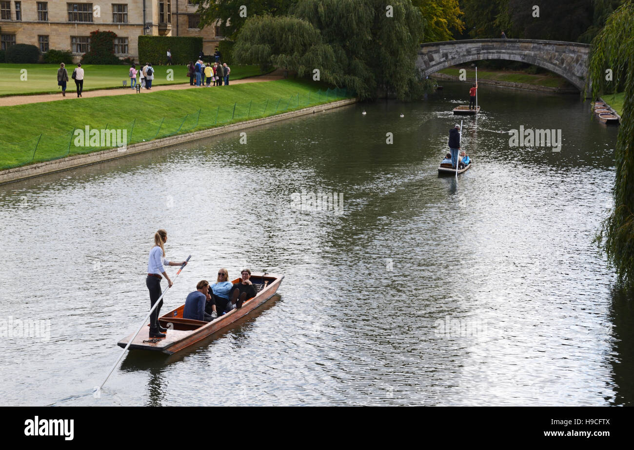
[(0, 121), (11, 126), (0, 129), (0, 169), (115, 147), (101, 140), (82, 143), (77, 133), (86, 126), (125, 132), (129, 145), (352, 96), (322, 83), (284, 79), (3, 107)]

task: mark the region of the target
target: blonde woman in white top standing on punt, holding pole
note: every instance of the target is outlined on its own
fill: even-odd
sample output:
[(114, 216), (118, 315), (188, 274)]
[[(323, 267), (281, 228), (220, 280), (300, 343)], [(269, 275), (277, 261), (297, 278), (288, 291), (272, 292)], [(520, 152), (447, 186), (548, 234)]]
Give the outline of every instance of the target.
[[(187, 261), (175, 263), (167, 260), (167, 258), (165, 258), (165, 242), (167, 242), (167, 232), (163, 229), (160, 229), (154, 234), (154, 246), (152, 247), (152, 250), (150, 250), (150, 259), (148, 260), (148, 276), (145, 279), (145, 285), (148, 287), (148, 291), (150, 291), (150, 308), (154, 306), (154, 303), (159, 300), (159, 297), (162, 294), (160, 281), (163, 279), (163, 277), (165, 277), (165, 279), (167, 280), (167, 284), (169, 284), (169, 286), (172, 286), (172, 281), (165, 273), (165, 269), (163, 268), (163, 266), (179, 266), (187, 264)], [(162, 305), (163, 300), (159, 302), (159, 306), (157, 306), (156, 309), (152, 311), (152, 315), (150, 315), (150, 338), (165, 337), (165, 334), (163, 334), (162, 332), (167, 331), (167, 329), (163, 328), (159, 324), (159, 312)]]

